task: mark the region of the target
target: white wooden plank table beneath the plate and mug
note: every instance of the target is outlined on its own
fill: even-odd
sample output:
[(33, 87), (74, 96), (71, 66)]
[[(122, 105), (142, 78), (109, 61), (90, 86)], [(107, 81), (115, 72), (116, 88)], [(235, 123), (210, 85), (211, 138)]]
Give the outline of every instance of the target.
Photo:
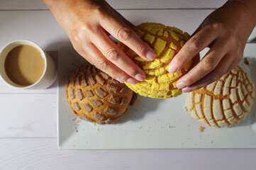
[[(164, 23), (189, 33), (225, 1), (108, 0), (134, 24)], [(41, 1), (0, 1), (0, 48), (37, 42), (57, 61), (67, 35)], [(255, 169), (256, 149), (58, 150), (57, 83), (18, 91), (0, 81), (0, 169)]]

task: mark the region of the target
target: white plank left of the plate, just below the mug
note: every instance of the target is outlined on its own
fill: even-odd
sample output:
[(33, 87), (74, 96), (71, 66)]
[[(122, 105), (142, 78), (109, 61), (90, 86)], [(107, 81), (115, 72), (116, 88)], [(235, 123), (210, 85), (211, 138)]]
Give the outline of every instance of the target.
[(56, 107), (56, 94), (1, 94), (0, 137), (56, 137)]

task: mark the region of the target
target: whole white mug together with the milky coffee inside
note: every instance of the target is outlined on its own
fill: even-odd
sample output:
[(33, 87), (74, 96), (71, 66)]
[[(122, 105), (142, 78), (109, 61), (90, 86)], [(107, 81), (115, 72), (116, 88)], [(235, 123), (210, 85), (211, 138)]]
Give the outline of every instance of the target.
[(55, 81), (55, 62), (30, 40), (14, 40), (0, 50), (0, 79), (16, 89), (46, 89)]

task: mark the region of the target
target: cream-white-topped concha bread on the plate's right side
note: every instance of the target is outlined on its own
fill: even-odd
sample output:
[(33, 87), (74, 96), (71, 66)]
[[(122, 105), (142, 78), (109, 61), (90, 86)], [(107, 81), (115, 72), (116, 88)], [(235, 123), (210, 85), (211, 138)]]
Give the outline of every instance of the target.
[(254, 103), (255, 85), (239, 66), (187, 96), (187, 109), (200, 123), (226, 128), (246, 117)]

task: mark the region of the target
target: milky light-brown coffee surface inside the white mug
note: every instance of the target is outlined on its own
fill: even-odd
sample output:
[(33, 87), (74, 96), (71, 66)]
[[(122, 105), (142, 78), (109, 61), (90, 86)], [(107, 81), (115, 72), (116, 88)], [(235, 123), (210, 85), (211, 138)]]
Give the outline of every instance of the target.
[(30, 86), (40, 79), (45, 69), (41, 52), (31, 45), (18, 45), (6, 56), (7, 77), (20, 86)]

